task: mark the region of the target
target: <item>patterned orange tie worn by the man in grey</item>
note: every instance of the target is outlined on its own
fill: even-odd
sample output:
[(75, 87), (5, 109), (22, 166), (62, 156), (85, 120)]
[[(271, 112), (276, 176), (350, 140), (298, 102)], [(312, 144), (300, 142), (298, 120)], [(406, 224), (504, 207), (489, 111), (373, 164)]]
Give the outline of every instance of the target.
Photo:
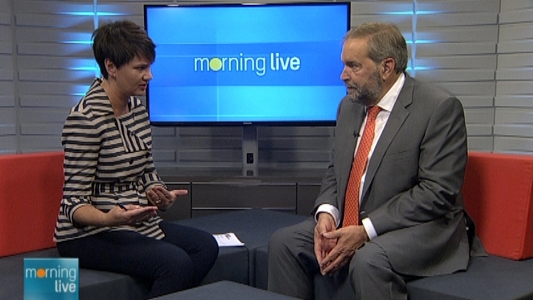
[(348, 186), (346, 187), (343, 227), (359, 225), (359, 187), (361, 186), (362, 173), (367, 167), (368, 154), (374, 140), (376, 117), (379, 110), (377, 105), (368, 109), (367, 122), (355, 153), (355, 159), (353, 159), (350, 178), (348, 178)]

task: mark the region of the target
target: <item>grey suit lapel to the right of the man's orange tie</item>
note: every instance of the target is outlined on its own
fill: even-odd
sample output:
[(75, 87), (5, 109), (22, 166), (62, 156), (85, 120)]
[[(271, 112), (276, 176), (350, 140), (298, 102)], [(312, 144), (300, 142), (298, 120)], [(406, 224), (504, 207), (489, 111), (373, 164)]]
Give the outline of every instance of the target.
[(409, 117), (409, 111), (406, 108), (411, 105), (411, 102), (413, 101), (413, 87), (412, 78), (406, 74), (404, 86), (398, 95), (396, 103), (394, 103), (394, 107), (392, 107), (392, 112), (387, 120), (387, 124), (385, 124), (381, 136), (379, 136), (379, 141), (377, 141), (374, 152), (372, 152), (372, 157), (368, 163), (367, 175), (362, 187), (361, 205), (363, 205), (367, 199), (368, 187), (374, 180), (377, 168), (381, 165), (385, 152), (389, 148), (394, 137), (402, 128), (402, 124), (404, 124), (407, 117)]

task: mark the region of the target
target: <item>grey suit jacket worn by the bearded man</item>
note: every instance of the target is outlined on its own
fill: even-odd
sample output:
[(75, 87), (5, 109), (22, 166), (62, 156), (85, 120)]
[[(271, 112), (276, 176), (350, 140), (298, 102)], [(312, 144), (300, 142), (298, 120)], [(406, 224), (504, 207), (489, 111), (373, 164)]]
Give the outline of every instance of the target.
[[(340, 102), (332, 161), (316, 208), (329, 203), (343, 215), (354, 132), (364, 117), (362, 105), (347, 97)], [(372, 242), (387, 252), (395, 272), (432, 276), (466, 269), (461, 186), (467, 158), (461, 102), (406, 74), (368, 164), (360, 209), (377, 231)]]

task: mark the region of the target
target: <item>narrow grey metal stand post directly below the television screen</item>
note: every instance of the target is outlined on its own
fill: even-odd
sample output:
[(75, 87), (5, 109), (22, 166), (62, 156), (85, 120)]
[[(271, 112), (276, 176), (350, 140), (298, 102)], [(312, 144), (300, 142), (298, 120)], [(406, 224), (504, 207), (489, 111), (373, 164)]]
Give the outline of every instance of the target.
[(242, 176), (257, 176), (258, 161), (257, 126), (244, 124), (242, 126)]

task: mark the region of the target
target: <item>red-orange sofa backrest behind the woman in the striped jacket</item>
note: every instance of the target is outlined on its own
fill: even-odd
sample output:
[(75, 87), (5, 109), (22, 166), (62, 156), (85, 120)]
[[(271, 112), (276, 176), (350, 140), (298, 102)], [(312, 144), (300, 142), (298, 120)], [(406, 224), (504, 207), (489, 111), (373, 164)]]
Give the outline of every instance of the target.
[(0, 156), (0, 257), (54, 247), (63, 151)]

